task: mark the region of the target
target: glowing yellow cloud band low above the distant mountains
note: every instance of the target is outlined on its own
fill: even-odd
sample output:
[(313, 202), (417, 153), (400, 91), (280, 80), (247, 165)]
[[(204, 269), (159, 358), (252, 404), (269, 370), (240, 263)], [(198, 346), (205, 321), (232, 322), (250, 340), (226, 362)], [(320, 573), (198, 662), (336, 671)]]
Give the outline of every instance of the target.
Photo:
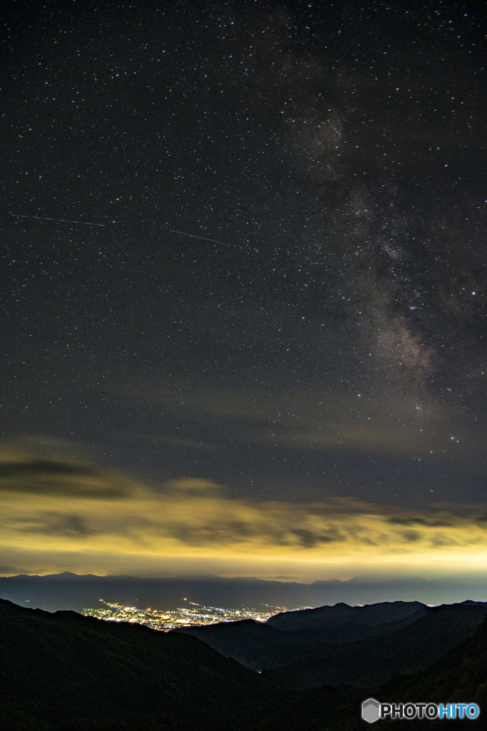
[(482, 506), (417, 512), (342, 498), (229, 499), (210, 480), (181, 477), (156, 490), (80, 461), (12, 450), (1, 455), (0, 491), (2, 550), (27, 550), (31, 558), (46, 551), (137, 555), (142, 564), (158, 556), (240, 557), (250, 567), (267, 556), (418, 568), (425, 559), (475, 561), (487, 553)]

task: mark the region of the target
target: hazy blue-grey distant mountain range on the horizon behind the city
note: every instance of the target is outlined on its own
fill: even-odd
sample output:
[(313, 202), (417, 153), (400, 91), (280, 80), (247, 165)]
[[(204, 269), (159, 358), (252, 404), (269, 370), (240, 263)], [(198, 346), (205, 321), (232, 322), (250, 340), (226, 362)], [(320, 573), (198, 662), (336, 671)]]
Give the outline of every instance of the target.
[(77, 575), (70, 572), (50, 576), (19, 575), (0, 577), (0, 596), (18, 605), (47, 611), (74, 610), (99, 606), (99, 599), (145, 609), (171, 610), (181, 606), (183, 597), (212, 607), (242, 609), (255, 607), (271, 611), (277, 607), (321, 607), (345, 602), (371, 605), (377, 602), (423, 602), (450, 604), (465, 599), (487, 601), (485, 583), (426, 580), (405, 577), (399, 580), (315, 581), (310, 584), (223, 578), (218, 576), (139, 578), (134, 576)]

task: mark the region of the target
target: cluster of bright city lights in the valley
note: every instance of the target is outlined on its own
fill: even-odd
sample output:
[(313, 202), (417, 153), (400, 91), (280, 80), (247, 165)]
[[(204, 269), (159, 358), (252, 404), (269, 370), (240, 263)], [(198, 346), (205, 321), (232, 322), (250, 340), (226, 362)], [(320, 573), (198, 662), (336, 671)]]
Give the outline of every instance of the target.
[[(277, 612), (288, 612), (286, 607), (268, 607), (274, 611), (261, 612), (259, 610), (245, 607), (241, 610), (222, 609), (221, 607), (205, 607), (196, 602), (188, 602), (185, 607), (178, 607), (176, 610), (164, 611), (156, 609), (139, 609), (138, 607), (124, 607), (112, 602), (104, 602), (99, 599), (105, 608), (83, 609), (85, 617), (97, 617), (111, 622), (131, 622), (144, 624), (151, 629), (158, 629), (161, 632), (169, 632), (169, 629), (177, 627), (188, 627), (202, 624), (217, 624), (218, 622), (238, 622), (242, 619), (255, 619), (258, 622), (265, 622)], [(187, 602), (187, 599), (183, 599)], [(194, 607), (194, 608), (193, 608)], [(308, 609), (309, 607), (297, 607)], [(276, 611), (277, 610), (277, 611)]]

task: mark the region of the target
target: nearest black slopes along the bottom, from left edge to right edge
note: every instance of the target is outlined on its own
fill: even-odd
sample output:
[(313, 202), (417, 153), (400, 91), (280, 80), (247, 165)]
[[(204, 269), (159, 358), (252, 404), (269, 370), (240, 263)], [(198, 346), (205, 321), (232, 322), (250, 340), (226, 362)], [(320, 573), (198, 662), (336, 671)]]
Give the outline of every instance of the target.
[[(478, 702), (485, 712), (487, 621), (421, 673), (369, 689), (321, 686), (297, 694), (196, 637), (0, 601), (1, 731), (358, 731), (368, 728), (360, 709), (371, 695), (381, 702)], [(460, 723), (487, 727), (482, 713), (472, 726), (448, 721), (448, 728)]]

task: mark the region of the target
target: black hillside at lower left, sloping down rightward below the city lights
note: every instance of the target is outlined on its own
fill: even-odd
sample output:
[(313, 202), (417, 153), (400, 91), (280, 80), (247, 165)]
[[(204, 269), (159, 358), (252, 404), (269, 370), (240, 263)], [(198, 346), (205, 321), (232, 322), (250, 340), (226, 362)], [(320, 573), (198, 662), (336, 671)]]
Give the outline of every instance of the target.
[(282, 700), (196, 637), (0, 600), (2, 731), (248, 730)]

